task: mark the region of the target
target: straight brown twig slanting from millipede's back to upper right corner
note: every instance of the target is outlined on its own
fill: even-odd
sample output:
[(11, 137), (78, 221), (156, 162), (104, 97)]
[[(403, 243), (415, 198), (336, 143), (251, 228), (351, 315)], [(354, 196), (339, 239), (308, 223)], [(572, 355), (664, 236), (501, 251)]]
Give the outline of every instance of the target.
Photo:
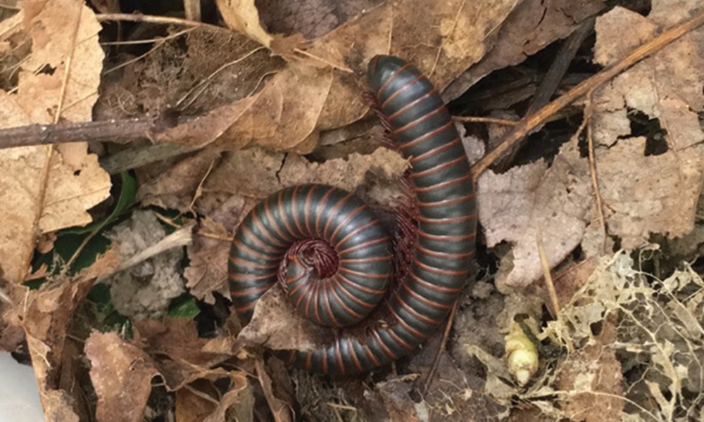
[(577, 87), (570, 89), (567, 94), (560, 96), (551, 103), (548, 103), (547, 106), (541, 108), (541, 110), (537, 113), (524, 117), (524, 119), (521, 120), (520, 124), (518, 124), (513, 131), (504, 136), (503, 141), (501, 141), (501, 143), (499, 143), (494, 150), (486, 154), (482, 160), (474, 165), (474, 168), (472, 169), (474, 180), (478, 179), (479, 175), (482, 174), (484, 170), (486, 170), (499, 157), (501, 157), (503, 153), (508, 151), (513, 144), (519, 141), (523, 136), (529, 134), (532, 129), (546, 122), (551, 115), (557, 113), (559, 110), (562, 110), (562, 108), (569, 106), (574, 101), (577, 101), (578, 98), (581, 98), (585, 94), (589, 93), (589, 91), (593, 91), (594, 89), (601, 87), (602, 84), (608, 82), (624, 70), (627, 70), (632, 65), (643, 60), (643, 58), (651, 56), (653, 53), (657, 53), (665, 46), (671, 44), (673, 41), (676, 41), (684, 34), (695, 30), (702, 24), (704, 24), (704, 11), (700, 12), (698, 15), (695, 15), (693, 18), (684, 21), (684, 23), (675, 25), (669, 30), (662, 32), (660, 36), (651, 39), (631, 51), (631, 53), (629, 53), (628, 56), (623, 58), (620, 62), (615, 63), (601, 72), (598, 72), (596, 75), (593, 75), (589, 79), (586, 79), (584, 82), (577, 85)]

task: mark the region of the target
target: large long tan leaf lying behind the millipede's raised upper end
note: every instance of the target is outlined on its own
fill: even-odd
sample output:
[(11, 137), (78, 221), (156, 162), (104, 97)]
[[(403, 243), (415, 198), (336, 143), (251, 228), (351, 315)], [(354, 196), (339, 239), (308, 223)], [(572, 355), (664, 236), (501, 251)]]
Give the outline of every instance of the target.
[[(484, 40), (515, 4), (517, 0), (387, 2), (316, 39), (257, 94), (213, 111), (216, 125), (197, 124), (201, 132), (185, 137), (177, 134), (191, 129), (177, 127), (160, 139), (231, 150), (256, 144), (308, 153), (318, 144), (320, 131), (342, 127), (367, 113), (360, 93), (372, 56), (393, 53), (413, 60), (444, 87), (482, 58)], [(238, 13), (247, 23), (243, 31), (256, 32), (253, 37), (269, 45), (269, 37), (260, 33), (253, 2), (238, 5), (247, 11)], [(429, 45), (428, 39), (435, 41)]]

